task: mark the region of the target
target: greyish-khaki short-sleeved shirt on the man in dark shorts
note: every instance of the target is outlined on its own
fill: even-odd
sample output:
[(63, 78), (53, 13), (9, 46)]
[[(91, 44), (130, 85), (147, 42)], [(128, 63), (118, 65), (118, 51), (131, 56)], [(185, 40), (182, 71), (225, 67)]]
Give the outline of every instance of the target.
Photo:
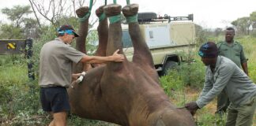
[(40, 51), (40, 87), (70, 87), (72, 64), (83, 56), (61, 39), (45, 43)]

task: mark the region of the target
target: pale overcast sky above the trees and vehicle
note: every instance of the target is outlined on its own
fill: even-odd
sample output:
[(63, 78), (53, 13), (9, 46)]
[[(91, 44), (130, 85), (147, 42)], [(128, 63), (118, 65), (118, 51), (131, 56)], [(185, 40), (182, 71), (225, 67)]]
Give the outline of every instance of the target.
[[(96, 2), (104, 1), (97, 0)], [(116, 2), (126, 6), (125, 0)], [(160, 16), (168, 14), (171, 17), (181, 17), (193, 13), (194, 23), (204, 28), (232, 26), (230, 23), (233, 20), (239, 17), (250, 17), (250, 13), (256, 11), (256, 0), (130, 0), (130, 3), (139, 4), (139, 12), (155, 12)], [(0, 9), (17, 5), (30, 4), (28, 0), (0, 0)], [(85, 6), (88, 6), (88, 3)], [(4, 18), (6, 17), (0, 13), (0, 20), (6, 21)]]

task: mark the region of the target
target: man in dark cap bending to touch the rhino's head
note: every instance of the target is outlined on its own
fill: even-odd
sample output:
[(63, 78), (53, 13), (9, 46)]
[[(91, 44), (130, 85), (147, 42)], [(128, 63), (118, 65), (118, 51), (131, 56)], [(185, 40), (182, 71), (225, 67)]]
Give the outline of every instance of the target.
[(233, 61), (218, 56), (215, 43), (203, 44), (198, 54), (207, 66), (205, 83), (198, 100), (186, 103), (186, 109), (194, 114), (224, 91), (231, 102), (226, 126), (252, 125), (256, 108), (256, 85)]

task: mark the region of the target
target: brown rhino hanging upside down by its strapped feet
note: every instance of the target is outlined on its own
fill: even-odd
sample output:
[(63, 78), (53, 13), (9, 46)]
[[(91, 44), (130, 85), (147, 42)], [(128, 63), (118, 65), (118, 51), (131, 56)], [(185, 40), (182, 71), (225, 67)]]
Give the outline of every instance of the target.
[[(77, 9), (78, 17), (83, 17), (88, 8)], [(138, 5), (122, 8), (125, 17), (137, 14)], [(101, 6), (96, 14), (107, 17), (118, 16), (121, 6), (112, 4)], [(108, 28), (109, 27), (109, 28)], [(108, 31), (107, 31), (108, 29)], [(85, 42), (88, 20), (81, 22), (77, 39), (77, 50), (85, 52), (81, 46)], [(122, 28), (120, 20), (107, 26), (107, 18), (98, 26), (100, 45), (97, 55), (111, 55), (117, 49), (122, 51)], [(159, 77), (154, 68), (152, 55), (141, 37), (137, 21), (129, 23), (129, 33), (133, 41), (133, 61), (108, 62), (90, 69), (85, 79), (68, 90), (72, 113), (79, 117), (131, 125), (174, 125), (194, 126), (194, 120), (186, 109), (177, 109), (160, 87)]]

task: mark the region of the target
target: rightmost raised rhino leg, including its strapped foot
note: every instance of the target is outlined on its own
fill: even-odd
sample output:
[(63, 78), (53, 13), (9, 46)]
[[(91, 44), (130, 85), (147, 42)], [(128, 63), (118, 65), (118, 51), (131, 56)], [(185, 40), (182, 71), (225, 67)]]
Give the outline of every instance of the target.
[(141, 69), (145, 70), (156, 82), (159, 82), (159, 76), (156, 72), (152, 54), (141, 35), (139, 24), (137, 22), (138, 5), (131, 4), (122, 8), (122, 13), (129, 24), (129, 34), (134, 46), (133, 62)]

